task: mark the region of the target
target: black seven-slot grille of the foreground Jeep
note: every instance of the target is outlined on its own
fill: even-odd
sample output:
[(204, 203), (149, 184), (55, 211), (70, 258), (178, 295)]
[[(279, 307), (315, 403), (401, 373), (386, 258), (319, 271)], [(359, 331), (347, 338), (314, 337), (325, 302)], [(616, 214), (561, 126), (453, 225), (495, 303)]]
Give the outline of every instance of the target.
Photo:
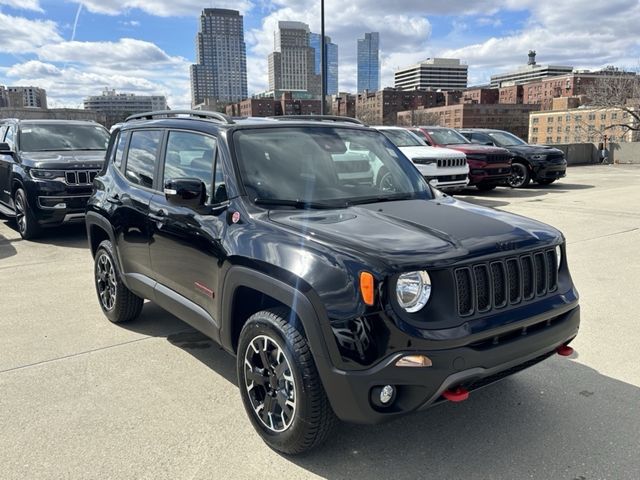
[(455, 269), (458, 314), (487, 313), (555, 291), (556, 262), (555, 251), (545, 250)]

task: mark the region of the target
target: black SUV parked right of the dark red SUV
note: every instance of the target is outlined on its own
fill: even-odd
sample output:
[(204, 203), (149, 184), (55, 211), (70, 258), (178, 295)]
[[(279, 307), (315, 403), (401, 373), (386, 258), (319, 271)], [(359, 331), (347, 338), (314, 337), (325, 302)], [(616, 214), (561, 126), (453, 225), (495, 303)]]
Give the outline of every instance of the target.
[(507, 181), (513, 188), (526, 187), (531, 180), (540, 185), (550, 185), (566, 175), (567, 160), (562, 150), (546, 145), (530, 145), (503, 130), (466, 128), (459, 132), (473, 143), (506, 148), (514, 155), (512, 174)]

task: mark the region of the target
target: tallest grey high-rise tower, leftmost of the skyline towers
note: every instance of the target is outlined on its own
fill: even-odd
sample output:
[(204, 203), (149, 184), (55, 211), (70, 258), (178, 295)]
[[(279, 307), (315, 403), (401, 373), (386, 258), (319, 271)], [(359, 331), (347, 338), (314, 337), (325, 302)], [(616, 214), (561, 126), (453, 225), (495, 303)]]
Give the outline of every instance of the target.
[(196, 63), (191, 65), (191, 103), (205, 99), (238, 102), (247, 98), (244, 21), (237, 10), (205, 8), (196, 34)]

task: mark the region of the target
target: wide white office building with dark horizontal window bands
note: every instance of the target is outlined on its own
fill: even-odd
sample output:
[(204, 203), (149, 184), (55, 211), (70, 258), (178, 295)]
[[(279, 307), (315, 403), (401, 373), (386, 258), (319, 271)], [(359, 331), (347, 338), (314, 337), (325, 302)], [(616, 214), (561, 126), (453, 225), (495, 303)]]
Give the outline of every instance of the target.
[(427, 58), (395, 73), (400, 90), (463, 90), (467, 88), (468, 65), (457, 58)]

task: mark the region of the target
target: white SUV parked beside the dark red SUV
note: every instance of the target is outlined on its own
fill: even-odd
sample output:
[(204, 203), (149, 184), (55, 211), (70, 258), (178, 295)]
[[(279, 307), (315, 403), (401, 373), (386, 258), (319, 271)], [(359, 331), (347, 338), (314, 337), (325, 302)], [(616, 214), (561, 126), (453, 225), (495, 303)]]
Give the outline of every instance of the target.
[(374, 127), (404, 153), (434, 187), (462, 190), (469, 183), (469, 165), (464, 153), (450, 148), (430, 147), (402, 127)]

